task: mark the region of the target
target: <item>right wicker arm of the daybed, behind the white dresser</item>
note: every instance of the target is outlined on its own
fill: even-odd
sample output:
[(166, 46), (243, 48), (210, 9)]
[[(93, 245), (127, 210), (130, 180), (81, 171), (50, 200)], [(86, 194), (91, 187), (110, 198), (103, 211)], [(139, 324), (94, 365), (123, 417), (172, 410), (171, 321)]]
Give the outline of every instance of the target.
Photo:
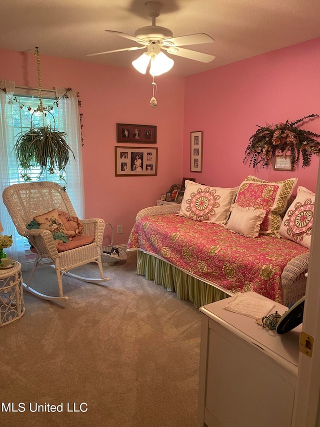
[(281, 287), (283, 304), (288, 306), (305, 293), (306, 277), (308, 270), (309, 252), (292, 258), (284, 267), (281, 274)]

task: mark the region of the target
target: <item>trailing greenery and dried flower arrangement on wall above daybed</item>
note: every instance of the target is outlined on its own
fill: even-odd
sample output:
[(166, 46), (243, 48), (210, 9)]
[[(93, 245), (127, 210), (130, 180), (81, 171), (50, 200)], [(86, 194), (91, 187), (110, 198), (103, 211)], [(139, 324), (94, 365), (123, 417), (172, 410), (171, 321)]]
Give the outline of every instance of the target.
[(274, 126), (266, 125), (265, 127), (256, 125), (258, 130), (250, 137), (249, 144), (245, 149), (243, 163), (249, 161), (249, 167), (255, 168), (261, 164), (262, 168), (267, 168), (270, 164), (271, 157), (281, 152), (286, 158), (292, 156), (293, 169), (302, 157), (302, 167), (310, 165), (311, 156), (320, 155), (320, 134), (306, 131), (296, 127), (307, 119), (315, 119), (317, 114), (310, 114), (302, 119), (285, 123), (278, 123)]

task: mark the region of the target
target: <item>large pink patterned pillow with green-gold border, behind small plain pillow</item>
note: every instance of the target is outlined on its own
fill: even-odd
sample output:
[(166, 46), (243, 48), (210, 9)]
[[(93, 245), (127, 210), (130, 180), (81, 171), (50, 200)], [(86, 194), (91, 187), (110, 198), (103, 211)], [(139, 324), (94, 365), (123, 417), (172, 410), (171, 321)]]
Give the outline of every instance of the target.
[(268, 182), (249, 175), (242, 181), (235, 203), (243, 208), (265, 210), (260, 233), (278, 237), (281, 214), (285, 211), (296, 182), (297, 178)]

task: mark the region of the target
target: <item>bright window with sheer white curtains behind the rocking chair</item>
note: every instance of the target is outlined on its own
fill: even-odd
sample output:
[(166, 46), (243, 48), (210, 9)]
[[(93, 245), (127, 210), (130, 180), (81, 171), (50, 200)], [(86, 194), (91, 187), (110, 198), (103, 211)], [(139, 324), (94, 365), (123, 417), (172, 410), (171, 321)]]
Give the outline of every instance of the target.
[[(3, 91), (5, 88), (5, 92)], [(81, 126), (79, 118), (78, 100), (75, 91), (70, 90), (67, 98), (62, 98), (66, 93), (65, 88), (55, 88), (55, 91), (42, 90), (42, 102), (44, 107), (52, 106), (55, 96), (59, 98), (58, 107), (54, 107), (51, 114), (44, 118), (42, 114), (34, 113), (38, 101), (38, 90), (29, 88), (15, 88), (14, 82), (0, 80), (0, 192), (5, 187), (24, 182), (21, 177), (21, 169), (17, 164), (13, 146), (15, 139), (21, 131), (30, 128), (32, 124), (42, 124), (43, 120), (55, 122), (56, 129), (66, 133), (66, 142), (70, 146), (75, 160), (71, 154), (69, 163), (65, 168), (66, 191), (79, 218), (84, 218), (84, 193), (82, 177), (82, 151), (81, 151)], [(18, 102), (12, 101), (16, 96)], [(20, 108), (20, 106), (25, 108)], [(30, 107), (31, 111), (28, 111)], [(32, 179), (38, 179), (40, 169), (34, 168)], [(59, 176), (43, 174), (41, 180), (55, 181), (65, 185)], [(4, 228), (4, 234), (12, 235), (13, 244), (6, 253), (13, 256), (23, 267), (25, 264), (25, 239), (16, 233), (15, 227), (3, 205), (0, 204), (0, 220)]]

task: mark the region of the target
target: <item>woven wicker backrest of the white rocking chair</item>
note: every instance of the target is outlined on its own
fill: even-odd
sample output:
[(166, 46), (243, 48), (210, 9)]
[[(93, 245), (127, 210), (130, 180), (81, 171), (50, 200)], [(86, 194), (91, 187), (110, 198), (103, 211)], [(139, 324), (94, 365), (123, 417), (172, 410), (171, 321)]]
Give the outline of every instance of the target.
[(3, 190), (2, 199), (19, 234), (35, 215), (52, 209), (76, 216), (67, 193), (55, 182), (13, 184)]

